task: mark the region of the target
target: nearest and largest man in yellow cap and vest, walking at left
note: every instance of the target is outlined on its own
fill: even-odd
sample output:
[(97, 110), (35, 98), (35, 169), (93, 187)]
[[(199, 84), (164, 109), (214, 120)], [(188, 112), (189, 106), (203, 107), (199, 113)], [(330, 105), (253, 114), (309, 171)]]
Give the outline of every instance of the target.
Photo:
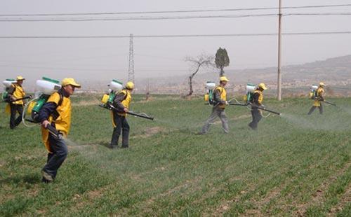
[(48, 101), (39, 111), (39, 121), (41, 122), (41, 133), (44, 145), (48, 150), (48, 160), (42, 169), (42, 181), (45, 183), (55, 179), (58, 168), (67, 158), (68, 150), (65, 140), (55, 137), (49, 133), (47, 125), (55, 127), (63, 137), (67, 137), (71, 126), (71, 100), (69, 96), (74, 93), (74, 89), (81, 87), (73, 78), (64, 78), (62, 87), (58, 92), (54, 92)]

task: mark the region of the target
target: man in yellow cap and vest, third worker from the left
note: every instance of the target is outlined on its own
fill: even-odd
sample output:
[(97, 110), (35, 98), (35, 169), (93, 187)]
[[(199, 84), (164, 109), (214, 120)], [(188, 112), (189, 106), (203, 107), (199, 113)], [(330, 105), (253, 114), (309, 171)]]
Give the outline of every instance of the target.
[(126, 87), (117, 92), (114, 97), (112, 105), (117, 111), (112, 111), (112, 139), (110, 148), (118, 148), (119, 136), (122, 132), (122, 145), (121, 148), (128, 148), (129, 146), (129, 125), (126, 119), (126, 112), (128, 112), (129, 104), (131, 103), (131, 92), (133, 91), (134, 84), (131, 81), (126, 83)]

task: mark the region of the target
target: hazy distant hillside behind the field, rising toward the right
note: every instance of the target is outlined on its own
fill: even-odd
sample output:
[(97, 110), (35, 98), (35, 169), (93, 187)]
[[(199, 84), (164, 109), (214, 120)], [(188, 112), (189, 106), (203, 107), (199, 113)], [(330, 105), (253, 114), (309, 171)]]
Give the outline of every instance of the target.
[[(277, 89), (277, 68), (264, 69), (241, 69), (226, 71), (225, 75), (230, 79), (228, 88), (242, 90), (246, 83), (264, 82), (270, 90)], [(198, 73), (194, 78), (194, 92), (204, 92), (206, 80), (218, 80), (218, 73)], [(282, 67), (283, 87), (296, 89), (308, 87), (319, 81), (324, 81), (330, 87), (351, 85), (351, 55), (333, 57), (322, 61), (305, 64), (289, 65)], [(145, 91), (148, 80), (137, 80), (139, 90)], [(172, 76), (168, 78), (150, 78), (152, 92), (159, 93), (182, 93), (188, 90), (186, 76)], [(350, 88), (351, 89), (351, 88)], [(350, 90), (351, 91), (351, 90)]]

